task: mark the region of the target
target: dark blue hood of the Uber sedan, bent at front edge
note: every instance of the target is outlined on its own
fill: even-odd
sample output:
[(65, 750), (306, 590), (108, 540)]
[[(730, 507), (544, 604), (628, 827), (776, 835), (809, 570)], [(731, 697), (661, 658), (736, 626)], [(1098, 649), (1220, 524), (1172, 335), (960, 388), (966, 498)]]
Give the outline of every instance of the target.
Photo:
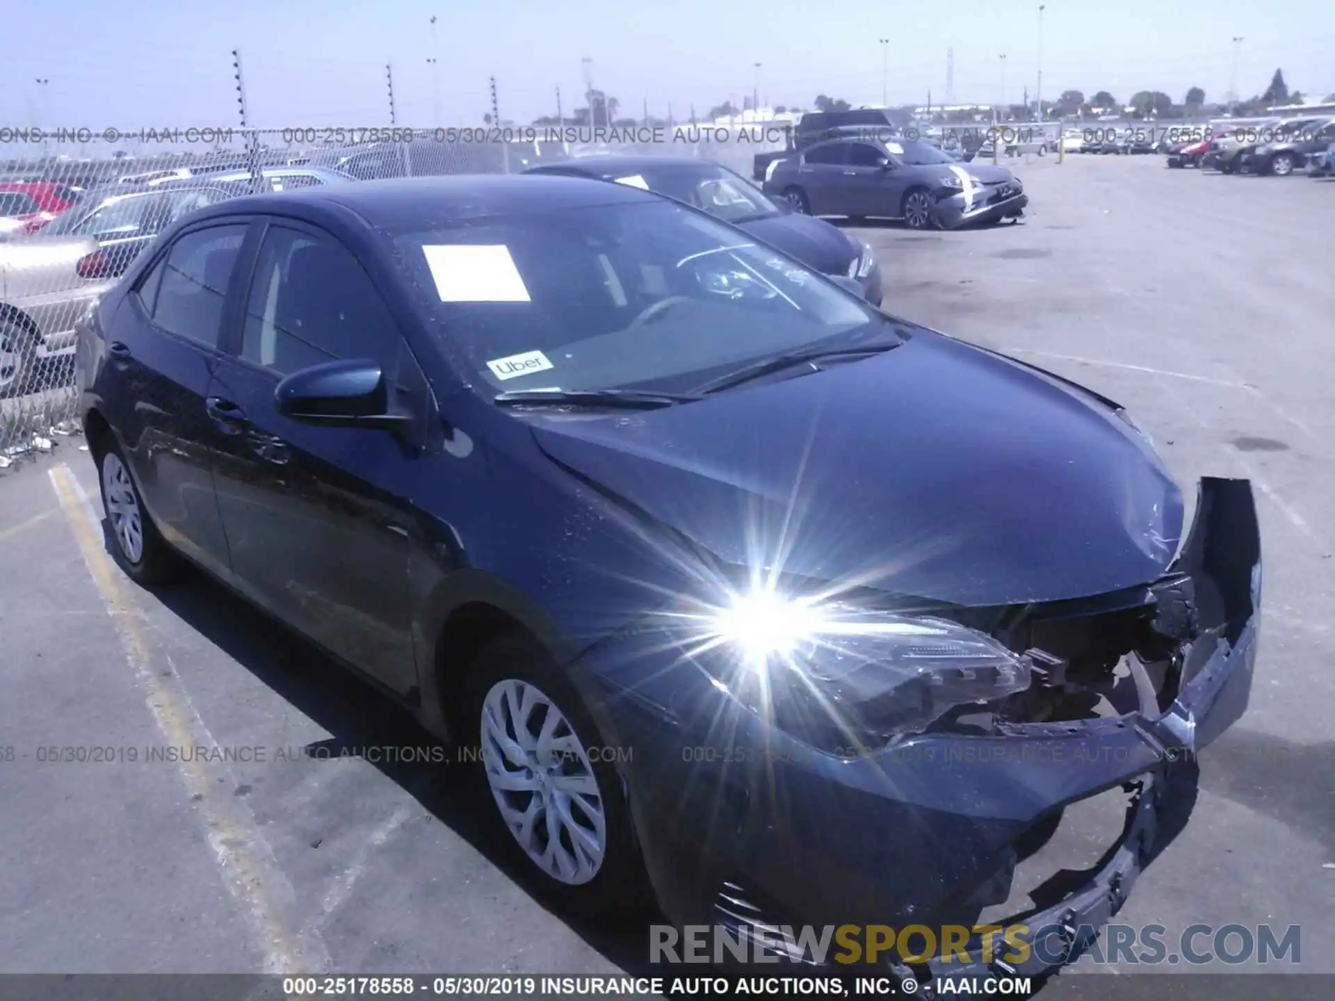
[(957, 605), (1147, 583), (1181, 533), (1181, 494), (1112, 410), (939, 334), (700, 403), (538, 418), (534, 436), (728, 563)]

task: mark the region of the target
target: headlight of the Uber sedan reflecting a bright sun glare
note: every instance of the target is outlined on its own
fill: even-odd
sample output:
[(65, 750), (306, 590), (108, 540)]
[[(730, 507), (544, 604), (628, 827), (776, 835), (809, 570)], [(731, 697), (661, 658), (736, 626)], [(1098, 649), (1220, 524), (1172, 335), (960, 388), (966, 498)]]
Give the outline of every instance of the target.
[(1031, 683), (1027, 658), (956, 622), (768, 589), (736, 597), (705, 630), (712, 670), (734, 697), (793, 737), (846, 757)]

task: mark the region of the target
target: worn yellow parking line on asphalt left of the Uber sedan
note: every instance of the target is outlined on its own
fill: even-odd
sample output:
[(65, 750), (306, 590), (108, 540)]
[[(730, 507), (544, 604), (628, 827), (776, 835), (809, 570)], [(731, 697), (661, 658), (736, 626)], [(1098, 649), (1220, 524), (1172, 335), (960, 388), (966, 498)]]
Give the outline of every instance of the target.
[[(125, 659), (147, 690), (148, 707), (166, 743), (175, 747), (215, 749), (216, 743), (195, 713), (190, 697), (164, 682), (152, 669), (150, 645), (135, 603), (123, 585), (120, 570), (104, 549), (101, 523), (79, 480), (64, 463), (48, 470), (48, 475), (60, 500), (60, 510), (64, 511), (88, 573), (120, 637)], [(191, 801), (203, 817), (223, 881), (256, 926), (259, 946), (264, 954), (264, 972), (319, 973), (328, 969), (328, 954), (319, 936), (300, 928), (291, 901), (284, 908), (275, 900), (290, 900), (291, 886), (278, 870), (272, 849), (248, 817), (248, 810), (243, 813), (230, 787), (219, 783), (210, 771), (204, 759), (211, 755), (178, 757), (190, 757), (190, 761), (178, 761), (178, 769), (191, 793)]]

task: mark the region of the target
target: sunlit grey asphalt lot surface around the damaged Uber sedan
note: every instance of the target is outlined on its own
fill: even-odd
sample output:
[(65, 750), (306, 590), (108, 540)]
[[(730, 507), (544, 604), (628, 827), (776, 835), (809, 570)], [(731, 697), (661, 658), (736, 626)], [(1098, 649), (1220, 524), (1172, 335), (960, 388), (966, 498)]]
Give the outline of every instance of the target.
[[(857, 231), (886, 308), (1121, 402), (1180, 483), (1248, 476), (1260, 509), (1251, 709), (1119, 921), (1299, 925), (1299, 969), (1335, 973), (1335, 183), (1151, 156), (1017, 174), (1017, 224)], [(645, 928), (530, 892), (458, 766), (368, 759), (433, 746), (407, 717), (198, 575), (120, 575), (88, 454), (57, 440), (0, 474), (0, 972), (645, 969)]]

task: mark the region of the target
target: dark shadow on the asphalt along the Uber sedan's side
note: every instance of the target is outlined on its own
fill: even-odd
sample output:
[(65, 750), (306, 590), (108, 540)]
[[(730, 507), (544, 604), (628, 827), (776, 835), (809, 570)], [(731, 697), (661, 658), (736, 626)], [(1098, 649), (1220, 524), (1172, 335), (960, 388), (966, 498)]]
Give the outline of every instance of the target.
[[(115, 539), (105, 518), (101, 527), (109, 555)], [(558, 912), (545, 898), (518, 849), (510, 850), (499, 821), (491, 822), (491, 814), (486, 813), (490, 803), (481, 798), (485, 786), (475, 769), (450, 763), (458, 761), (455, 750), (422, 729), (403, 706), (195, 567), (183, 573), (179, 581), (154, 589), (154, 595), (182, 622), (331, 734), (303, 749), (312, 758), (362, 757), (366, 747), (442, 749), (443, 763), (367, 761), (609, 962), (633, 976), (662, 976), (661, 969), (649, 964), (646, 952), (650, 922), (663, 918), (654, 913), (634, 920), (618, 916), (613, 929)]]

